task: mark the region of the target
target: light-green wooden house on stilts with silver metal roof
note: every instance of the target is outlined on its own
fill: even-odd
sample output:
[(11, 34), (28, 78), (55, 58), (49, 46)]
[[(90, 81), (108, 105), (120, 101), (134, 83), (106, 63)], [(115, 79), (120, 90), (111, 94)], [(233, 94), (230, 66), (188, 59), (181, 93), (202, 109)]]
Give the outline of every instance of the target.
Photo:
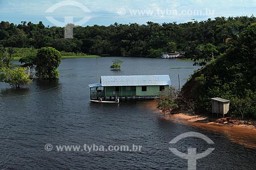
[(153, 76), (101, 76), (100, 83), (90, 84), (91, 100), (155, 99), (168, 95), (170, 78), (168, 75)]

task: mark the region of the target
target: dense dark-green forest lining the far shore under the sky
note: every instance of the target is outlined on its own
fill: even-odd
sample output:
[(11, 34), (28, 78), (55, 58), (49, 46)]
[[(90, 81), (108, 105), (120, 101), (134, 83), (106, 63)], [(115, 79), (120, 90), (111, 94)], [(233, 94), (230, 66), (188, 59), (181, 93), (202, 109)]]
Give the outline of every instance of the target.
[(224, 53), (230, 39), (237, 40), (251, 23), (253, 15), (216, 17), (187, 23), (154, 23), (129, 25), (114, 23), (106, 26), (75, 27), (74, 38), (65, 39), (65, 28), (45, 26), (22, 21), (19, 25), (0, 23), (0, 46), (34, 47), (51, 46), (58, 51), (111, 56), (159, 57), (162, 52), (186, 51), (193, 54), (202, 44), (216, 47), (216, 55)]

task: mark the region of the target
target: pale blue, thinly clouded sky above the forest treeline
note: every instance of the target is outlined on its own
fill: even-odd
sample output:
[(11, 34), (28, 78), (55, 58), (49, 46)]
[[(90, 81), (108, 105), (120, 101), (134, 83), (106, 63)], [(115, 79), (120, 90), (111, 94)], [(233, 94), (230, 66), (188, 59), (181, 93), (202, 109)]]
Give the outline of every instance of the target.
[(42, 21), (63, 27), (147, 21), (188, 22), (221, 16), (256, 16), (256, 0), (0, 0), (0, 20), (19, 24)]

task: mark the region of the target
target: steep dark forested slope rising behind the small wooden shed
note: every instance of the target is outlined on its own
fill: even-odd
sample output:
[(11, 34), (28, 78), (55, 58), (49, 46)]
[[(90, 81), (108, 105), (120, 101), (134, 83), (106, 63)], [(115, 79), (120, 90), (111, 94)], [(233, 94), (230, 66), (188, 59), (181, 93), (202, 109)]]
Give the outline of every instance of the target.
[(211, 110), (210, 98), (230, 100), (230, 114), (256, 118), (256, 24), (230, 41), (227, 52), (195, 72), (183, 86), (198, 110)]

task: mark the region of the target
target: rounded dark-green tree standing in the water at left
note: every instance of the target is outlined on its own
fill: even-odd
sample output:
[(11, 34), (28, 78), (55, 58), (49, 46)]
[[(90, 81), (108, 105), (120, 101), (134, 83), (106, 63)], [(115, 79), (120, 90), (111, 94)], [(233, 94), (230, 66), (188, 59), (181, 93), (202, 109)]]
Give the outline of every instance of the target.
[(34, 59), (37, 76), (44, 79), (56, 79), (59, 76), (57, 70), (61, 62), (60, 53), (53, 47), (42, 47), (38, 50)]

